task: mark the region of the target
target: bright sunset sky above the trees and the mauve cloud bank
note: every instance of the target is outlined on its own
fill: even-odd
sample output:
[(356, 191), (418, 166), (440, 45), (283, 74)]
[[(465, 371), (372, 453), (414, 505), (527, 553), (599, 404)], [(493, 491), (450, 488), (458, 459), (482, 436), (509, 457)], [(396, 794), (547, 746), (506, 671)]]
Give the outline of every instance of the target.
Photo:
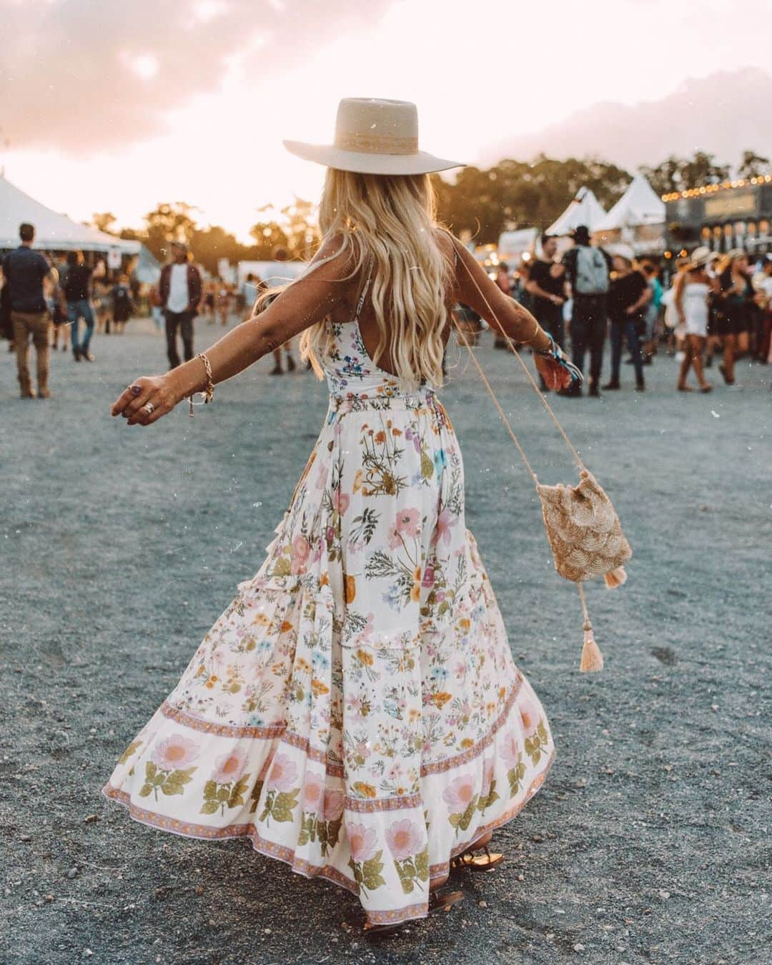
[(186, 201), (246, 239), (260, 207), (318, 199), (324, 169), (281, 142), (329, 143), (342, 96), (415, 101), (421, 148), (474, 163), (597, 101), (768, 69), (772, 0), (732, 6), (0, 0), (0, 164), (78, 220)]

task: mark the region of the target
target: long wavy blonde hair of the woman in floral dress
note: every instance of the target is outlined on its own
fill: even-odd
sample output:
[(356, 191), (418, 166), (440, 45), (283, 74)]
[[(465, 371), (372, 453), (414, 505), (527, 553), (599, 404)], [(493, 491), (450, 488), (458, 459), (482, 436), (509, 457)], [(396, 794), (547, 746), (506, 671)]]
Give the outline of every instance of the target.
[[(453, 269), (438, 241), (436, 211), (428, 175), (364, 175), (334, 168), (328, 169), (319, 207), (322, 249), (332, 251), (310, 270), (342, 255), (354, 263), (346, 278), (361, 273), (364, 285), (363, 271), (372, 265), (369, 295), (379, 332), (375, 358), (390, 360), (405, 388), (443, 381)], [(272, 296), (266, 292), (259, 301)], [(320, 378), (320, 359), (332, 341), (329, 318), (300, 336), (300, 355)]]

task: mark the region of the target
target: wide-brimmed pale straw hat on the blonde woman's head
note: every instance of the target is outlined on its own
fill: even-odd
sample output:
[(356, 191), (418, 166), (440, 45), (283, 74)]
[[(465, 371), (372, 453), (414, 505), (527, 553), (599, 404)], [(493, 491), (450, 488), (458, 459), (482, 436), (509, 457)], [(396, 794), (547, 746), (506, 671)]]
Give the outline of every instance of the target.
[(418, 111), (409, 100), (344, 97), (332, 144), (285, 141), (284, 147), (306, 161), (364, 175), (426, 175), (464, 166), (418, 151)]

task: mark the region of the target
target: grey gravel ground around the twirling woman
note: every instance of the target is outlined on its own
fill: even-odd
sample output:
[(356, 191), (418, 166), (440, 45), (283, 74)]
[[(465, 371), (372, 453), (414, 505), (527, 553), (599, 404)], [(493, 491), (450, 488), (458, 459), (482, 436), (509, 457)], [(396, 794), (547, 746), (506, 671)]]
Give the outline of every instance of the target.
[[(199, 323), (199, 345), (218, 332)], [(447, 917), (374, 943), (348, 893), (100, 796), (262, 562), (325, 389), (264, 360), (195, 420), (181, 406), (128, 429), (109, 403), (160, 368), (162, 340), (133, 323), (94, 350), (93, 365), (58, 354), (50, 401), (19, 400), (0, 355), (3, 962), (770, 961), (769, 370), (680, 396), (660, 356), (643, 396), (555, 400), (635, 550), (623, 589), (588, 590), (602, 675), (578, 673), (578, 596), (519, 457), (472, 368), (451, 372), (469, 524), (558, 760), (498, 833), (502, 869), (464, 878)], [(542, 481), (571, 481), (514, 361), (479, 357)]]

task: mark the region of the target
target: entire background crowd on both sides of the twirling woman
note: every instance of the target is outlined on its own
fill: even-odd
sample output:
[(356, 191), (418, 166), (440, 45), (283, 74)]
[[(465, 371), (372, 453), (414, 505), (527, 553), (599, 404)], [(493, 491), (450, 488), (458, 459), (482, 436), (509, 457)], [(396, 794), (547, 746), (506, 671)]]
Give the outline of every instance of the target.
[[(136, 288), (127, 274), (107, 271), (104, 262), (90, 267), (80, 252), (69, 252), (55, 265), (33, 249), (32, 225), (21, 225), (19, 235), (19, 247), (2, 262), (0, 317), (16, 352), (21, 396), (48, 398), (50, 349), (67, 351), (70, 343), (75, 362), (93, 362), (95, 332), (123, 333), (136, 310)], [(737, 359), (772, 363), (772, 255), (751, 264), (739, 248), (726, 255), (698, 248), (676, 260), (664, 285), (658, 263), (639, 262), (624, 244), (593, 245), (584, 226), (576, 229), (573, 246), (561, 258), (558, 241), (542, 235), (538, 257), (521, 262), (516, 272), (501, 262), (495, 281), (530, 309), (560, 348), (568, 345), (574, 365), (587, 370), (587, 395), (597, 398), (601, 390), (621, 388), (625, 350), (639, 392), (645, 390), (644, 369), (661, 348), (679, 363), (679, 392), (692, 391), (687, 384), (692, 371), (699, 390), (710, 392), (705, 370), (718, 353), (718, 369), (728, 385), (735, 384)], [(283, 257), (277, 254), (278, 261)], [(234, 312), (249, 314), (261, 292), (285, 281), (250, 273), (237, 289), (222, 279), (207, 279), (186, 244), (172, 242), (171, 261), (149, 293), (157, 328), (165, 331), (169, 368), (193, 358), (197, 315), (226, 325)], [(472, 342), (487, 327), (469, 306), (457, 305), (455, 317)], [(601, 384), (607, 339), (611, 372)], [(30, 340), (37, 352), (37, 390), (29, 372)], [(506, 347), (506, 341), (495, 333), (494, 345)], [(292, 343), (273, 351), (272, 375), (296, 369)], [(541, 387), (548, 391), (543, 380)], [(583, 389), (575, 384), (561, 394), (578, 398)]]

